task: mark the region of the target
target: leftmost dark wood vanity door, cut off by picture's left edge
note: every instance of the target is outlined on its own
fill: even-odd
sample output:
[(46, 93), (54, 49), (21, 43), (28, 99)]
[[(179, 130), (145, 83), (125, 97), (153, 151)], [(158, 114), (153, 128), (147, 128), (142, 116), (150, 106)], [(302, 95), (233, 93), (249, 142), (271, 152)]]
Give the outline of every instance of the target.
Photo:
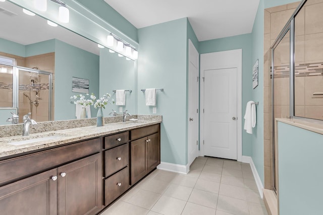
[(57, 170), (29, 177), (0, 188), (1, 214), (57, 214)]

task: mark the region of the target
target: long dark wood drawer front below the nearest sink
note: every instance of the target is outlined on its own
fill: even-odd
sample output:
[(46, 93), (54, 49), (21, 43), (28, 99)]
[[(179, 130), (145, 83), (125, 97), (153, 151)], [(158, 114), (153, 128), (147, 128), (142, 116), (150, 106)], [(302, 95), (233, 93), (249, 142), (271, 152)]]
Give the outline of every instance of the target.
[[(100, 138), (0, 162), (0, 185), (100, 152)], [(13, 168), (14, 167), (14, 168)]]

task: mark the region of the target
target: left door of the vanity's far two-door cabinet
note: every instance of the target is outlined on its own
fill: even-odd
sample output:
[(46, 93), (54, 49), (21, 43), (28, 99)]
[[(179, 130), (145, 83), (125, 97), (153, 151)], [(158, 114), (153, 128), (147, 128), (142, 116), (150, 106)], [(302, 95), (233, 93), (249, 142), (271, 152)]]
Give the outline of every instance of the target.
[(143, 137), (130, 143), (132, 185), (147, 174), (146, 140), (147, 137)]

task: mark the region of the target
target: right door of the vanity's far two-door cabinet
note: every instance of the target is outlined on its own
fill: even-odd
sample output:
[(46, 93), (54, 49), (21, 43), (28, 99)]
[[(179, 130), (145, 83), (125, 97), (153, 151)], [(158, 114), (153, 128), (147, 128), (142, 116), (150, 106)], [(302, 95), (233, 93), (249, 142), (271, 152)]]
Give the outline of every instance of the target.
[(147, 138), (147, 171), (150, 172), (158, 164), (160, 164), (159, 133), (154, 133)]

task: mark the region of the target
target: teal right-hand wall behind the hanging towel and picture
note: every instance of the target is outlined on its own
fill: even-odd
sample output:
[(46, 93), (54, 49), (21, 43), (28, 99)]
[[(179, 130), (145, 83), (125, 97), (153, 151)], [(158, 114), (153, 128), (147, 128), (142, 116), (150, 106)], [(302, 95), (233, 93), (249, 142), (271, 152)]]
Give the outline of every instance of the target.
[[(264, 184), (264, 167), (263, 167), (263, 0), (260, 0), (256, 19), (252, 28), (252, 54), (251, 66), (258, 59), (258, 87), (251, 90), (251, 99), (258, 101), (257, 106), (257, 124), (253, 128), (251, 157), (257, 169), (258, 175)], [(250, 67), (248, 77), (252, 77), (252, 67)], [(251, 84), (250, 84), (251, 88)], [(268, 127), (268, 129), (270, 129)]]

